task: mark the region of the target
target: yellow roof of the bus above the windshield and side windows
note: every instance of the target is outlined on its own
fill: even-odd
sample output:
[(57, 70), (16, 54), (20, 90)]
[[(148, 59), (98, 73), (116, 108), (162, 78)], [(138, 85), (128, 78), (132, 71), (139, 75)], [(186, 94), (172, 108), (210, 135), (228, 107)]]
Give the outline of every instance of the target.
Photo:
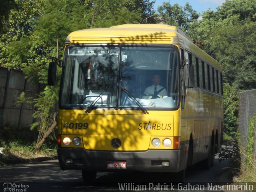
[(198, 48), (192, 39), (176, 26), (165, 24), (123, 24), (110, 28), (90, 28), (70, 33), (66, 43), (92, 44), (180, 44), (206, 62), (221, 68), (211, 56)]

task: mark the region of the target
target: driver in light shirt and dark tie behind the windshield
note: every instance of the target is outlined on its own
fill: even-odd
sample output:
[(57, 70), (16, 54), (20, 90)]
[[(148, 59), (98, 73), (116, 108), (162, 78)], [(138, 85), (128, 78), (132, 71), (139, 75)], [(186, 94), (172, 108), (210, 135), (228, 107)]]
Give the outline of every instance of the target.
[(154, 75), (153, 78), (151, 79), (153, 84), (149, 87), (147, 87), (144, 90), (144, 95), (154, 95), (158, 96), (160, 98), (167, 96), (166, 89), (159, 85), (160, 83), (160, 76), (159, 75)]

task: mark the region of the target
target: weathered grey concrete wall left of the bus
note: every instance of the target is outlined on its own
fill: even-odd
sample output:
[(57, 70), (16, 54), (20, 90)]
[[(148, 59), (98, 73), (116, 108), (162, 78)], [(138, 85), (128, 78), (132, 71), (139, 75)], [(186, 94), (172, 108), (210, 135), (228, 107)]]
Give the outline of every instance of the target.
[(27, 82), (22, 71), (0, 67), (0, 127), (30, 127), (34, 106), (17, 106), (16, 98), (22, 92), (36, 98), (37, 90), (38, 85)]

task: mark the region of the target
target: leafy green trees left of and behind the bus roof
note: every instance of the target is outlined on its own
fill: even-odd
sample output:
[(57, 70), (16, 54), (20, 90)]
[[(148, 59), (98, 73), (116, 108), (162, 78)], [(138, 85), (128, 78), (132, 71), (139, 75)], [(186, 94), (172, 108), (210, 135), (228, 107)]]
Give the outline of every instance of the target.
[[(154, 1), (133, 0), (128, 5), (123, 0), (18, 2), (20, 9), (12, 12), (6, 25), (8, 33), (2, 36), (0, 61), (6, 67), (22, 69), (28, 79), (42, 85), (38, 98), (20, 96), (20, 102), (33, 102), (37, 108), (34, 117), (40, 120), (32, 124), (31, 129), (38, 129), (35, 148), (39, 149), (56, 126), (54, 116), (61, 70), (58, 69), (56, 86), (46, 86), (48, 63), (57, 51), (59, 58), (62, 58), (66, 36), (84, 28), (142, 22), (146, 19), (142, 16), (150, 12)], [(140, 8), (140, 5), (145, 7)], [(59, 50), (56, 48), (57, 41), (60, 42)]]

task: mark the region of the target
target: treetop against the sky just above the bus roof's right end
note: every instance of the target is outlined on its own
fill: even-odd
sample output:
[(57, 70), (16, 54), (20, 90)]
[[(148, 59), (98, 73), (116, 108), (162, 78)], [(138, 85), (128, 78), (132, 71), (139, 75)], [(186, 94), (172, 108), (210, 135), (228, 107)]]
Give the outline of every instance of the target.
[(188, 3), (182, 7), (163, 2), (163, 5), (158, 7), (158, 12), (157, 22), (177, 26), (185, 32), (188, 32), (192, 22), (199, 18), (199, 14)]

